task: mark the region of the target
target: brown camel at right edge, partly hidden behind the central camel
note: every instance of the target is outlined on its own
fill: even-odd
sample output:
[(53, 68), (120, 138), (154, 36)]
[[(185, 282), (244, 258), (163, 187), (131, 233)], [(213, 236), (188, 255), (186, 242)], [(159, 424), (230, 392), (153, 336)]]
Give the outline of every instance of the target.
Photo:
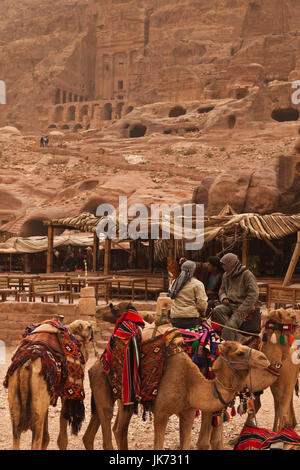
[[(273, 323), (293, 325), (297, 321), (297, 312), (291, 310), (277, 309), (268, 313), (267, 320)], [(276, 343), (271, 342), (271, 335), (275, 331)], [(296, 330), (296, 336), (297, 335)], [(297, 425), (294, 406), (293, 406), (293, 393), (298, 379), (299, 365), (293, 364), (291, 356), (294, 349), (289, 345), (288, 341), (285, 344), (280, 344), (280, 332), (278, 330), (266, 330), (267, 342), (261, 344), (260, 350), (266, 355), (271, 364), (282, 364), (280, 376), (272, 376), (266, 374), (266, 380), (270, 381), (269, 385), (260, 387), (260, 382), (256, 383), (256, 374), (253, 374), (252, 391), (258, 392), (271, 387), (274, 397), (275, 419), (274, 419), (274, 432), (279, 432), (285, 425), (295, 427)], [(288, 339), (288, 338), (286, 338)], [(259, 377), (259, 374), (257, 375)], [(262, 379), (263, 380), (263, 379)], [(264, 382), (265, 384), (267, 382)], [(249, 384), (248, 384), (249, 385)], [(260, 395), (255, 397), (254, 401), (255, 413), (261, 408)], [(197, 443), (197, 449), (212, 449), (220, 450), (223, 448), (223, 423), (213, 428), (211, 426), (212, 415), (202, 413), (201, 429)], [(254, 421), (254, 414), (248, 415), (247, 422)], [(210, 439), (209, 439), (210, 436)], [(234, 443), (234, 441), (232, 441)]]

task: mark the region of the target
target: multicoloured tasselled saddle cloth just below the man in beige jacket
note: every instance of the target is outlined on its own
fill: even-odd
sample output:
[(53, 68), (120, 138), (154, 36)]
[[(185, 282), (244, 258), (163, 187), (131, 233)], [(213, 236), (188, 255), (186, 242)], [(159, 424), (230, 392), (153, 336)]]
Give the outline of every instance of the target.
[(188, 355), (198, 365), (206, 378), (213, 379), (213, 364), (219, 353), (219, 344), (223, 341), (211, 326), (203, 321), (196, 328), (179, 329)]

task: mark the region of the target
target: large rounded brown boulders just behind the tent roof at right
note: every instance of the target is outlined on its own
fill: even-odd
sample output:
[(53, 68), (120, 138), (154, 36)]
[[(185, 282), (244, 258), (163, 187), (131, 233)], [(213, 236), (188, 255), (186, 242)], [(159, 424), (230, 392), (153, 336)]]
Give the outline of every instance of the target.
[(274, 168), (224, 172), (209, 185), (194, 190), (193, 203), (204, 204), (211, 215), (228, 203), (238, 213), (295, 213), (300, 207), (300, 157), (280, 156)]

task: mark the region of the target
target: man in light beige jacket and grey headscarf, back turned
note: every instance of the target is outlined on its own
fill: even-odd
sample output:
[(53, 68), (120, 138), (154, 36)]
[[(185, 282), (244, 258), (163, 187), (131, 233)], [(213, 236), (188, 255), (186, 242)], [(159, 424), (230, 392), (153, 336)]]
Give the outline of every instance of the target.
[(207, 295), (204, 285), (194, 277), (196, 263), (185, 261), (173, 282), (170, 297), (174, 299), (170, 319), (175, 328), (194, 328), (205, 316)]

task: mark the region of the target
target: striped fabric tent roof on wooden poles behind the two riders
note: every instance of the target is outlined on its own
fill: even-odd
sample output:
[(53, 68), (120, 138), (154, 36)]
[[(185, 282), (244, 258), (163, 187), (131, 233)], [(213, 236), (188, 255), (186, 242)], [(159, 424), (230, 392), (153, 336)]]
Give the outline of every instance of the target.
[[(81, 232), (90, 232), (94, 234), (94, 249), (96, 249), (95, 241), (97, 240), (97, 227), (99, 222), (111, 221), (111, 217), (96, 217), (90, 213), (83, 213), (76, 217), (69, 217), (64, 219), (52, 219), (45, 221), (48, 225), (48, 253), (51, 253), (51, 238), (53, 238), (53, 230), (56, 227), (69, 228), (79, 230)], [(186, 241), (191, 241), (191, 234), (182, 233), (182, 223), (186, 221), (186, 217), (160, 217), (158, 219), (140, 219), (140, 231), (148, 230), (147, 239), (151, 240), (152, 230), (155, 231), (155, 226), (159, 226), (159, 237), (154, 245), (154, 258), (161, 260), (166, 257), (174, 258), (175, 250), (177, 255), (184, 252)], [(260, 215), (255, 213), (236, 214), (230, 206), (226, 205), (225, 208), (214, 216), (203, 217), (203, 224), (201, 228), (197, 228), (197, 222), (194, 217), (190, 218), (191, 227), (195, 237), (203, 236), (204, 242), (208, 243), (216, 238), (224, 239), (231, 237), (232, 246), (238, 241), (243, 243), (243, 263), (246, 264), (247, 255), (247, 238), (257, 238), (264, 240), (275, 251), (276, 247), (273, 245), (272, 240), (279, 240), (293, 233), (300, 231), (300, 214), (285, 215), (281, 213), (274, 213), (269, 215)], [(200, 220), (201, 222), (201, 220)], [(115, 222), (116, 231), (118, 232), (118, 221)], [(164, 232), (169, 228), (170, 239), (164, 239)], [(156, 231), (157, 232), (157, 231)], [(188, 231), (187, 231), (188, 232)], [(123, 239), (116, 237), (118, 241)], [(128, 240), (128, 238), (126, 239)], [(105, 241), (105, 270), (108, 270), (109, 265), (109, 251), (111, 240)], [(171, 255), (171, 256), (170, 256)], [(49, 267), (51, 263), (49, 262)]]

